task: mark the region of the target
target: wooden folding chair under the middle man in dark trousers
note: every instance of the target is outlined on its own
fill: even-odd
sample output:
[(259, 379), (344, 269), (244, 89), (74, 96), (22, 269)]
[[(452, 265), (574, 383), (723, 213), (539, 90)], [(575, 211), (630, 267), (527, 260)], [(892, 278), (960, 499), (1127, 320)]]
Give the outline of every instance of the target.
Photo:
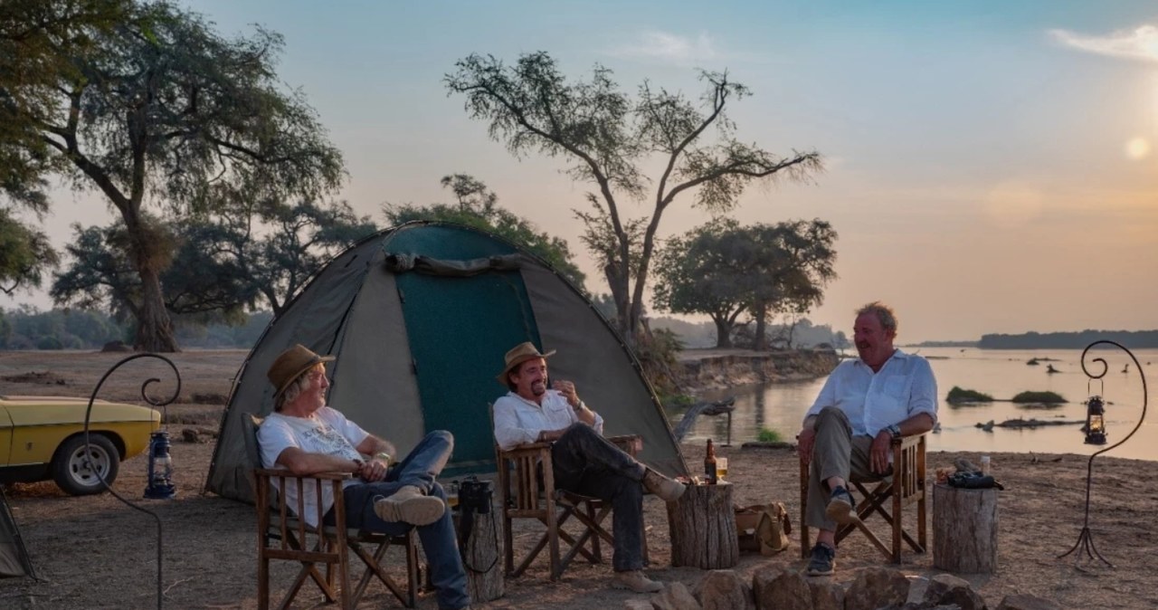
[[(607, 440), (630, 455), (636, 455), (643, 447), (643, 438), (637, 435), (611, 436)], [(611, 512), (611, 506), (599, 498), (580, 495), (555, 487), (555, 475), (551, 469), (551, 443), (525, 443), (510, 450), (503, 450), (496, 446), (494, 457), (499, 471), (507, 575), (522, 574), (544, 547), (548, 550), (551, 580), (557, 580), (577, 554), (584, 556), (592, 564), (603, 561), (601, 542), (615, 543), (611, 534), (603, 527), (603, 521)], [(571, 517), (574, 517), (582, 526), (579, 536), (572, 536), (563, 529), (563, 524)], [(547, 528), (518, 566), (515, 566), (514, 539), (511, 529), (512, 521), (515, 519), (535, 519)], [(567, 552), (563, 557), (559, 557), (560, 539), (569, 545)], [(643, 539), (644, 561), (646, 561), (646, 535), (643, 536)]]

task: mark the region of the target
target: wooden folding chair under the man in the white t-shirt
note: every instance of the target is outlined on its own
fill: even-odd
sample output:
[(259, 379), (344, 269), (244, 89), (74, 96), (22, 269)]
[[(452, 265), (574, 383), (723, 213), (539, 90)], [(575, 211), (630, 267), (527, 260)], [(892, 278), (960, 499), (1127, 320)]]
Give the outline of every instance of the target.
[[(342, 484), (351, 476), (345, 472), (324, 472), (295, 476), (287, 470), (261, 468), (261, 450), (257, 444), (257, 428), (262, 419), (245, 416), (245, 449), (254, 469), (254, 495), (257, 508), (257, 595), (258, 608), (270, 607), (270, 563), (274, 560), (298, 561), (301, 569), (290, 590), (277, 604), (288, 608), (307, 579), (314, 581), (328, 602), (339, 602), (343, 610), (353, 610), (375, 578), (406, 608), (415, 608), (418, 591), (418, 549), (416, 534), (411, 528), (404, 536), (349, 529), (346, 527), (345, 501)], [(286, 495), (278, 490), (294, 486), (298, 491), (296, 506), (290, 506)], [(315, 494), (316, 522), (323, 523), (322, 490), (334, 494), (334, 526), (310, 527), (303, 519), (305, 493)], [(398, 544), (406, 556), (406, 588), (401, 587), (382, 567), (382, 559), (391, 544)], [(366, 566), (358, 583), (351, 586), (350, 552)], [(325, 574), (318, 565), (325, 566)], [(337, 576), (337, 582), (335, 582)]]

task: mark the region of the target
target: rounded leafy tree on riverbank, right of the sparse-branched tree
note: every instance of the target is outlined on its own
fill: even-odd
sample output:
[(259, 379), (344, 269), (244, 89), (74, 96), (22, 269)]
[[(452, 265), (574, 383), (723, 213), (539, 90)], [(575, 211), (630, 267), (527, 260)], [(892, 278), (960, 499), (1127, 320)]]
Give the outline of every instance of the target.
[(741, 314), (756, 324), (763, 348), (764, 316), (806, 313), (821, 301), (835, 277), (828, 222), (790, 221), (741, 227), (717, 220), (672, 238), (659, 255), (654, 301), (675, 314), (706, 314), (716, 324), (717, 347), (731, 347)]

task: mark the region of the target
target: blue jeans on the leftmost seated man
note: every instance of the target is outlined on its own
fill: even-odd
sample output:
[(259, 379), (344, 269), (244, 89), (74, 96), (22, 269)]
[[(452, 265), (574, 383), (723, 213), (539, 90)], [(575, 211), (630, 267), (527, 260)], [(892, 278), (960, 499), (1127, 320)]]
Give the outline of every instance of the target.
[[(434, 431), (427, 434), (402, 462), (390, 466), (384, 480), (346, 487), (343, 491), (346, 501), (346, 523), (351, 528), (380, 531), (390, 536), (402, 536), (410, 531), (410, 528), (415, 527), (410, 523), (382, 521), (374, 513), (374, 499), (380, 495), (388, 498), (400, 488), (413, 485), (423, 490), (426, 495), (434, 495), (446, 501), (446, 492), (434, 479), (442, 472), (452, 450), (454, 450), (454, 436), (446, 431)], [(438, 607), (456, 609), (470, 605), (470, 595), (467, 594), (467, 572), (459, 556), (450, 508), (447, 507), (442, 519), (430, 526), (419, 526), (418, 538), (430, 561), (431, 583), (438, 590)]]

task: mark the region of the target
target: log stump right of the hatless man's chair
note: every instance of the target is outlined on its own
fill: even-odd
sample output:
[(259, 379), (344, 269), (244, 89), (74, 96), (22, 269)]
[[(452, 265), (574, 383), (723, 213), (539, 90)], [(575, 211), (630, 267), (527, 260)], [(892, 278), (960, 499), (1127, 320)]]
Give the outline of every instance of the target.
[(933, 566), (965, 574), (997, 569), (997, 490), (933, 485)]

